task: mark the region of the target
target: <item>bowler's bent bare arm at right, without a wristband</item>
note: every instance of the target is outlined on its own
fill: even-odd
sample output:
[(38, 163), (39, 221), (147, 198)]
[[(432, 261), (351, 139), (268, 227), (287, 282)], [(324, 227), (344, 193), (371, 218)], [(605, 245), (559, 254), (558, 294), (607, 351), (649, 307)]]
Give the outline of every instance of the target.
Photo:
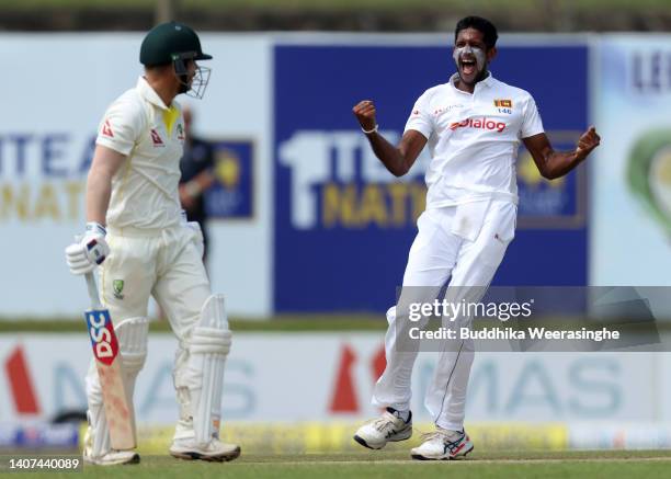
[(580, 164), (599, 146), (601, 137), (591, 126), (580, 136), (573, 151), (555, 151), (545, 133), (523, 138), (522, 141), (532, 155), (543, 178), (555, 180)]

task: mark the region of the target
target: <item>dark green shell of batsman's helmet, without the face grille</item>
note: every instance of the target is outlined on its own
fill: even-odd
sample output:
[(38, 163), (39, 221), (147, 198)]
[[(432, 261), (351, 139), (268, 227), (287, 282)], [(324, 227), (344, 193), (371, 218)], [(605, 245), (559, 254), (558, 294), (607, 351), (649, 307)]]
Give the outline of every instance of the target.
[(211, 60), (212, 55), (203, 53), (198, 35), (183, 23), (161, 23), (147, 33), (140, 47), (140, 64), (152, 67), (179, 59)]

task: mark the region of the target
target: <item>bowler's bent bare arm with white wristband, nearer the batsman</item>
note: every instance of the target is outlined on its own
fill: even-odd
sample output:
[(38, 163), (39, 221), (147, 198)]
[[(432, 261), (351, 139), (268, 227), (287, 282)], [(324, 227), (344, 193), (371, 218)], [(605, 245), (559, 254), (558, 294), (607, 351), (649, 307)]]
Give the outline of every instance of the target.
[(360, 102), (352, 109), (352, 112), (368, 138), (373, 152), (385, 168), (395, 176), (402, 176), (410, 171), (410, 167), (427, 145), (424, 135), (414, 129), (409, 129), (403, 134), (398, 146), (395, 147), (377, 132), (375, 104), (371, 100)]

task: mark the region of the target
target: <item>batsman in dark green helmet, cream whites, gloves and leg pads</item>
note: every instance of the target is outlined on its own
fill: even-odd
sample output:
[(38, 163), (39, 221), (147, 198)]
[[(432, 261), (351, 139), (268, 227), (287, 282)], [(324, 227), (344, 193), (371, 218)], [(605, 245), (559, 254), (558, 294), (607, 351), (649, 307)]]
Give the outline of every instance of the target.
[[(208, 59), (197, 34), (184, 24), (163, 23), (145, 36), (144, 75), (100, 123), (86, 190), (86, 232), (66, 258), (76, 275), (100, 265), (100, 296), (114, 320), (130, 397), (147, 357), (149, 296), (158, 301), (179, 341), (173, 379), (180, 415), (170, 454), (221, 461), (240, 455), (240, 447), (219, 441), (231, 334), (224, 297), (211, 293), (201, 230), (182, 217), (178, 184), (185, 132), (174, 100), (181, 93), (203, 96), (209, 69), (197, 62)], [(93, 364), (87, 396), (84, 460), (138, 463), (135, 451), (111, 447)]]

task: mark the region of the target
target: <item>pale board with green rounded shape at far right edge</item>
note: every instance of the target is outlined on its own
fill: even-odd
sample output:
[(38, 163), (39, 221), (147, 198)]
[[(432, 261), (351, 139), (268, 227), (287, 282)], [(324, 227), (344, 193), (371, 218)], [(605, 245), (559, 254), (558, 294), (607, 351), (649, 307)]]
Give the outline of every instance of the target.
[(671, 285), (671, 36), (605, 35), (593, 58), (590, 284)]

